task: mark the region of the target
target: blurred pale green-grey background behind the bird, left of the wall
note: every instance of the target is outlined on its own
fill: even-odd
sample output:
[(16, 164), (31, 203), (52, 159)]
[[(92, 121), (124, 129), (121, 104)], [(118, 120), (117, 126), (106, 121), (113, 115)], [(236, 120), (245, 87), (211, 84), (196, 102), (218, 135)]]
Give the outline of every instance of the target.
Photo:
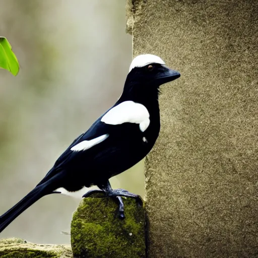
[[(132, 60), (125, 0), (0, 0), (0, 35), (20, 62), (0, 70), (0, 213), (23, 198), (58, 156), (120, 96)], [(111, 179), (144, 195), (143, 165)], [(82, 196), (82, 193), (79, 195)], [(44, 197), (0, 237), (69, 243), (80, 199)]]

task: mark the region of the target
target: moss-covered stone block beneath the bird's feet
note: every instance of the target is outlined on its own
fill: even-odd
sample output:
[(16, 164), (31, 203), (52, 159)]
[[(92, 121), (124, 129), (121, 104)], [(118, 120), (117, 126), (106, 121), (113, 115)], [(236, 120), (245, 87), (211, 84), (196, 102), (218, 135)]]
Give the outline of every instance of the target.
[(124, 199), (125, 219), (109, 198), (86, 198), (74, 213), (71, 242), (74, 257), (145, 257), (145, 211)]

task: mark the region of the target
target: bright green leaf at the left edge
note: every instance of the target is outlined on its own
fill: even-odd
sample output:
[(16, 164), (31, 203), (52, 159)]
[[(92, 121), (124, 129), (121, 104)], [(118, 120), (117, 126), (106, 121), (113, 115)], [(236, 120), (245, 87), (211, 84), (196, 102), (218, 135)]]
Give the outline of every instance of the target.
[(5, 37), (0, 37), (0, 68), (8, 70), (14, 76), (19, 72), (19, 62)]

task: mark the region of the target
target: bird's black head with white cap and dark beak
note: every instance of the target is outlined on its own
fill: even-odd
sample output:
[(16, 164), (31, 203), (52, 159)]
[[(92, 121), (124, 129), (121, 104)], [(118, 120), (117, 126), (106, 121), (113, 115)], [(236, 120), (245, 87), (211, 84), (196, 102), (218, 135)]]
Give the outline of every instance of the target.
[[(180, 73), (169, 69), (157, 55), (142, 54), (135, 57), (127, 75), (124, 91), (146, 94), (158, 91), (159, 86), (180, 77)], [(131, 95), (131, 94), (130, 94)]]

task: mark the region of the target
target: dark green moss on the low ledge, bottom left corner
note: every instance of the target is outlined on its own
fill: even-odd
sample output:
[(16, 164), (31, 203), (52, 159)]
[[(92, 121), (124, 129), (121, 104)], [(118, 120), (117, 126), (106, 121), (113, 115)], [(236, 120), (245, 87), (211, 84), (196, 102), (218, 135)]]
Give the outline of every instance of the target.
[(15, 250), (0, 250), (1, 258), (58, 258), (58, 256), (49, 251), (40, 251), (33, 249), (20, 248)]

